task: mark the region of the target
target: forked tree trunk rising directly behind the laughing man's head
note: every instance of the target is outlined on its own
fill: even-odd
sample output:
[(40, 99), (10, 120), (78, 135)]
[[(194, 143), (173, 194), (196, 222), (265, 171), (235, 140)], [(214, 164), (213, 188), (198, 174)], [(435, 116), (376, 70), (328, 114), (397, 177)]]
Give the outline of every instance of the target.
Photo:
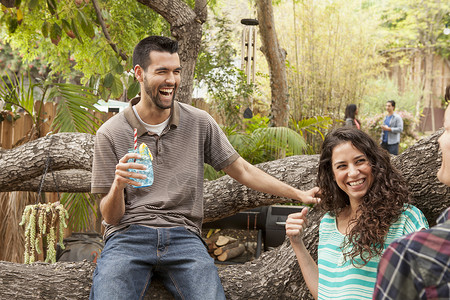
[(202, 24), (208, 15), (206, 0), (195, 0), (194, 9), (183, 0), (137, 1), (150, 7), (169, 22), (172, 35), (180, 46), (179, 55), (183, 66), (180, 89), (176, 98), (180, 102), (191, 103), (195, 62), (202, 39)]

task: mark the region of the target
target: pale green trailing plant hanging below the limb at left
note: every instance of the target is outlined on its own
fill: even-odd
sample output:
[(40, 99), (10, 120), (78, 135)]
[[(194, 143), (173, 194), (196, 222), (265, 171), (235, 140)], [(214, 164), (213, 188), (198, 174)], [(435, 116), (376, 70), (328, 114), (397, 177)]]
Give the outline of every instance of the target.
[(55, 246), (58, 242), (64, 249), (64, 228), (67, 228), (68, 217), (67, 210), (59, 202), (38, 203), (25, 207), (19, 224), (25, 225), (25, 264), (35, 262), (36, 253), (42, 253), (41, 238), (43, 245), (46, 245), (45, 262), (56, 262)]

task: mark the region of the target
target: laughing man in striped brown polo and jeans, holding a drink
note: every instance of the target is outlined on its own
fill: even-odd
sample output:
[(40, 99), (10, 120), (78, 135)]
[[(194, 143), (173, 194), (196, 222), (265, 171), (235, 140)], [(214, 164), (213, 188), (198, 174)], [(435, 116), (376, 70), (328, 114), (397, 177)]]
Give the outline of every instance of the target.
[[(154, 275), (175, 299), (225, 299), (200, 237), (204, 163), (258, 191), (317, 201), (318, 188), (303, 192), (252, 166), (209, 114), (175, 101), (181, 76), (177, 51), (177, 42), (166, 37), (140, 41), (133, 53), (140, 97), (97, 131), (91, 191), (103, 194), (105, 248), (91, 299), (141, 299)], [(151, 186), (140, 186), (135, 180), (145, 175), (130, 171), (145, 169), (135, 162), (139, 154), (128, 153), (134, 137), (153, 156)]]

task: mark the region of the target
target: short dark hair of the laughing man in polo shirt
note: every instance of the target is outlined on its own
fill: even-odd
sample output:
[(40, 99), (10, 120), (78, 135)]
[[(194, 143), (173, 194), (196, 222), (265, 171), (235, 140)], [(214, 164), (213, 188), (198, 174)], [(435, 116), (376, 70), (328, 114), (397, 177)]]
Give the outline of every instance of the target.
[(165, 36), (152, 35), (141, 40), (133, 51), (133, 68), (140, 65), (142, 69), (147, 70), (150, 65), (150, 52), (169, 52), (170, 54), (178, 52), (178, 42)]

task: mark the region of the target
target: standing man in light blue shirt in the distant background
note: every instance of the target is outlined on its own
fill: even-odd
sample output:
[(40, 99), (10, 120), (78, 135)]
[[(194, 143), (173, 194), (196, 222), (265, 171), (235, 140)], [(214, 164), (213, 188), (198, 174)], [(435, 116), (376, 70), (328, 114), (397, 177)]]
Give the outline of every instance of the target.
[(390, 154), (398, 155), (398, 146), (400, 144), (400, 133), (403, 131), (403, 120), (398, 114), (394, 113), (395, 101), (386, 102), (387, 116), (384, 118), (383, 133), (381, 134), (381, 147)]

